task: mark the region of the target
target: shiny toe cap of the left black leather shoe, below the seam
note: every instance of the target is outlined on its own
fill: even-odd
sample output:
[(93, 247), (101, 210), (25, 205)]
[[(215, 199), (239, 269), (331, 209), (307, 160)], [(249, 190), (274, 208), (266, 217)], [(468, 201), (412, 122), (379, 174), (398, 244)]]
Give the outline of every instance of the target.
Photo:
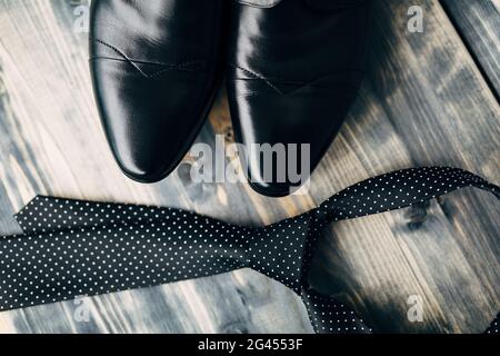
[(93, 61), (92, 75), (106, 136), (121, 170), (140, 182), (171, 174), (208, 109), (203, 75), (160, 68), (158, 75), (144, 75), (111, 60)]

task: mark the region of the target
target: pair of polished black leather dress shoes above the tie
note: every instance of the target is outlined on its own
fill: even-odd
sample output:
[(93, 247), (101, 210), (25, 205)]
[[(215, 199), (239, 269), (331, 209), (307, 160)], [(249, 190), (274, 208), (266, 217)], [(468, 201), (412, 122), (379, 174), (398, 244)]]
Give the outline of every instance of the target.
[[(226, 73), (237, 140), (250, 151), (309, 145), (312, 171), (361, 83), (369, 2), (92, 1), (92, 80), (120, 168), (141, 182), (176, 169)], [(248, 157), (257, 191), (279, 197), (297, 186), (264, 172), (259, 155)], [(296, 164), (289, 157), (286, 166)]]

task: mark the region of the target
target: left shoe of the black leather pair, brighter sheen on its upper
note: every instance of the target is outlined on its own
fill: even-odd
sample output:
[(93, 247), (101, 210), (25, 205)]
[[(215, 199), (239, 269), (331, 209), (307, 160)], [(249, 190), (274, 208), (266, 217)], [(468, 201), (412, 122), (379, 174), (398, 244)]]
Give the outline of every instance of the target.
[(108, 141), (130, 178), (183, 158), (220, 82), (226, 0), (92, 1), (90, 63)]

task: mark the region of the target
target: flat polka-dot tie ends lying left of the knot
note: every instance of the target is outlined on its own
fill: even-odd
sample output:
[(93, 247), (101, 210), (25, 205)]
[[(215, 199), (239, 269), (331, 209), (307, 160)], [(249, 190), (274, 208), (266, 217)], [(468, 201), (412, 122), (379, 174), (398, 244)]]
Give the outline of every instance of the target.
[(34, 198), (0, 244), (0, 309), (246, 266), (250, 229), (170, 208)]

